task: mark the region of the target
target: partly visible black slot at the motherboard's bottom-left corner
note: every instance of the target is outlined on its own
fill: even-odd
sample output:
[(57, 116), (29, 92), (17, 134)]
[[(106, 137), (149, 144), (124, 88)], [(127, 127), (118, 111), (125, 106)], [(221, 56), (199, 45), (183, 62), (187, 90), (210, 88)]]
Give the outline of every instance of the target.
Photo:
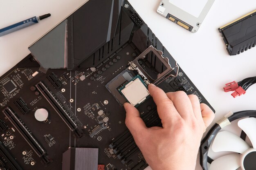
[[(8, 163), (9, 166), (11, 166), (11, 168), (13, 170), (23, 170), (20, 165), (15, 161), (15, 159), (11, 156), (11, 154), (8, 152), (8, 150), (6, 148), (4, 148), (4, 146), (2, 145), (2, 143), (0, 142), (0, 155), (2, 157), (4, 157), (5, 161), (4, 163)], [(2, 168), (4, 169), (4, 168)]]

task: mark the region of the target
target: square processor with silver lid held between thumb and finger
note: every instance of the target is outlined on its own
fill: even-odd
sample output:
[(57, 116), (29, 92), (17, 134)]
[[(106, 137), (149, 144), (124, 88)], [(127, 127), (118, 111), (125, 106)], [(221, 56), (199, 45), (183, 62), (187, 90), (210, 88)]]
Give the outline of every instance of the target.
[(132, 104), (132, 106), (139, 106), (142, 102), (144, 102), (149, 97), (149, 92), (147, 89), (147, 85), (141, 79), (139, 75), (135, 76), (132, 80), (130, 80), (125, 85), (119, 88), (119, 92), (121, 95), (125, 97), (127, 102)]

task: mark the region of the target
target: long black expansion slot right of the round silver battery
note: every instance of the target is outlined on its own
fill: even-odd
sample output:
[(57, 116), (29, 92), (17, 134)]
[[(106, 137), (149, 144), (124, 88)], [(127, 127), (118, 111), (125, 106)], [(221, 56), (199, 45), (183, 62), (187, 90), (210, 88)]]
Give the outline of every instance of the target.
[[(82, 137), (83, 131), (78, 128), (78, 125), (74, 121), (77, 119), (76, 117), (70, 117), (70, 113), (66, 110), (66, 108), (58, 101), (58, 99), (54, 96), (54, 94), (48, 90), (48, 88), (43, 84), (43, 82), (39, 82), (36, 84), (36, 88), (38, 91), (45, 97), (45, 99), (49, 102), (49, 104), (54, 108), (54, 110), (58, 113), (61, 119), (65, 122), (65, 124), (70, 128), (72, 132), (74, 132), (75, 137)], [(78, 122), (80, 122), (77, 119)]]

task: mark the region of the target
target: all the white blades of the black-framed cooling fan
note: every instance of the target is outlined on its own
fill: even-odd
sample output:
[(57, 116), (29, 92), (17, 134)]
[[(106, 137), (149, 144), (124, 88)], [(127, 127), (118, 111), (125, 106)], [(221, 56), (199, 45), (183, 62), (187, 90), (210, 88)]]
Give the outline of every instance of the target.
[(250, 147), (243, 139), (228, 131), (218, 132), (213, 144), (214, 152), (236, 152), (215, 159), (209, 170), (256, 170), (256, 118), (249, 117), (238, 121), (238, 126), (252, 142)]

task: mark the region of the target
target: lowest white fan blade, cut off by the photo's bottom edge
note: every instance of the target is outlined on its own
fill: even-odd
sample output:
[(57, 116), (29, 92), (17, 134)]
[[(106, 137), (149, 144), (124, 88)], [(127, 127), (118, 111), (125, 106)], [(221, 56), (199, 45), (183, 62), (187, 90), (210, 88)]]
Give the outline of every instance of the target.
[(236, 170), (240, 167), (240, 155), (231, 154), (215, 159), (209, 170)]

